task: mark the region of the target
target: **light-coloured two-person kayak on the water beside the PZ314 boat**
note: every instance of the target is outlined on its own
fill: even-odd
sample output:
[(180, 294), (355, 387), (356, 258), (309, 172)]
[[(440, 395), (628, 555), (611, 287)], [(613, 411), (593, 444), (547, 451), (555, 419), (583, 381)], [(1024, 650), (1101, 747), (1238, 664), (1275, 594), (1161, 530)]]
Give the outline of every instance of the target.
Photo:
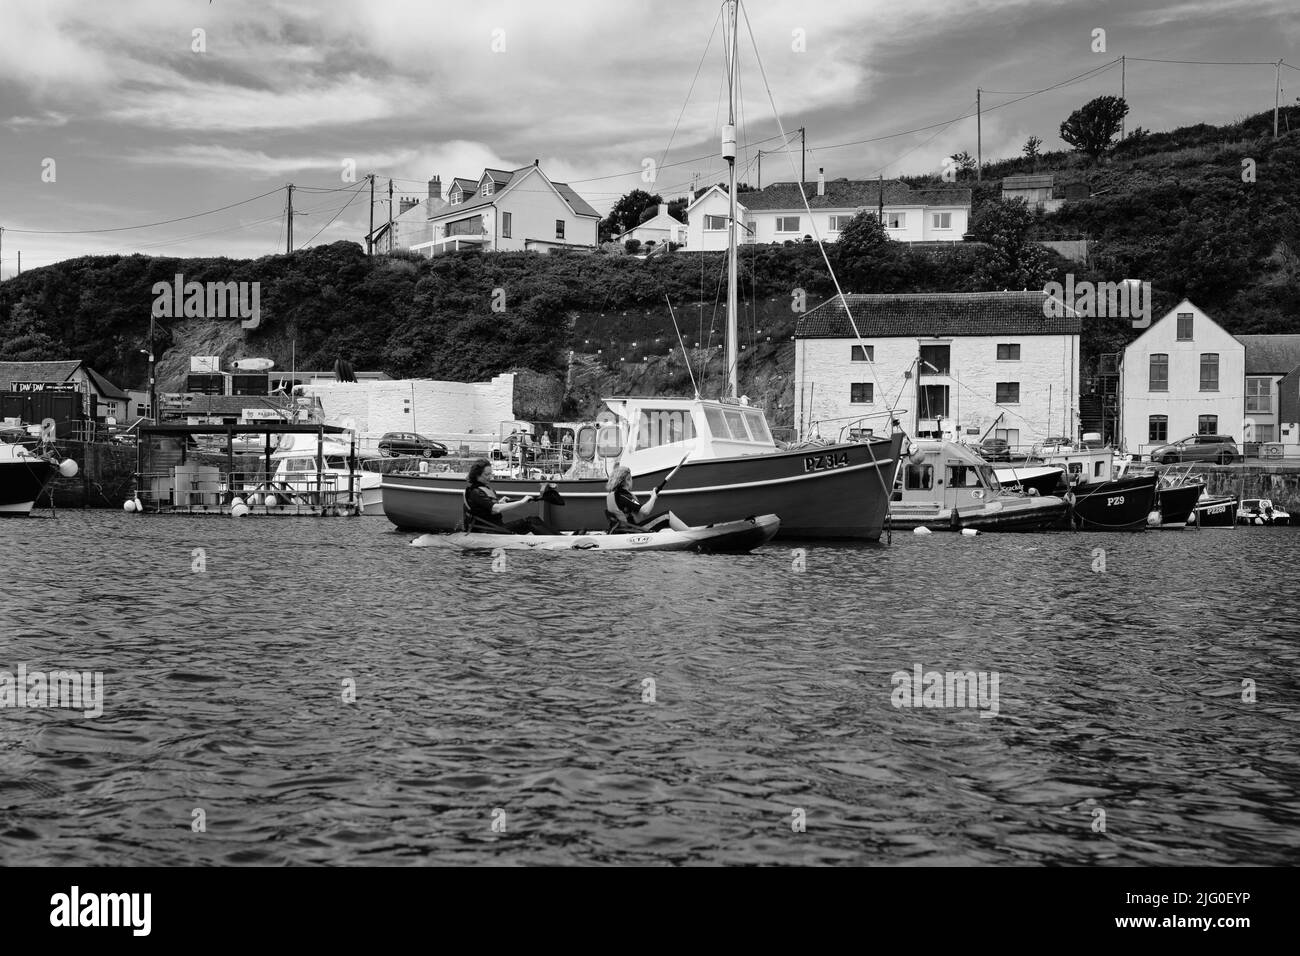
[(751, 551), (772, 540), (781, 527), (776, 515), (759, 515), (740, 522), (702, 524), (685, 531), (662, 528), (633, 535), (610, 535), (603, 531), (566, 535), (493, 535), (463, 532), (421, 535), (415, 548), (459, 548), (489, 550), (498, 548), (520, 551)]

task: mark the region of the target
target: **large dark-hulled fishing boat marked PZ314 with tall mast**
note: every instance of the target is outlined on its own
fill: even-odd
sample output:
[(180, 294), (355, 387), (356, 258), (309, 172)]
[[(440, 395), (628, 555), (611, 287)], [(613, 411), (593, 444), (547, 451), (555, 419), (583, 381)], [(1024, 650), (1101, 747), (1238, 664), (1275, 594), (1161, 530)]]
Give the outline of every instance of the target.
[[(746, 515), (780, 515), (781, 537), (880, 537), (889, 510), (901, 432), (862, 441), (779, 447), (762, 408), (741, 397), (737, 382), (737, 203), (736, 203), (736, 0), (724, 4), (727, 18), (728, 121), (722, 156), (728, 168), (727, 220), (727, 395), (701, 398), (607, 398), (604, 420), (578, 428), (576, 462), (564, 473), (526, 470), (503, 476), (494, 488), (503, 496), (537, 496), (542, 483), (558, 485), (569, 502), (560, 511), (540, 503), (552, 528), (577, 532), (603, 527), (604, 483), (578, 477), (625, 464), (640, 486), (658, 485), (680, 464), (660, 499), (682, 522), (707, 525)], [(682, 459), (684, 463), (682, 463)], [(593, 468), (593, 466), (602, 466)], [(584, 470), (584, 466), (586, 468)], [(384, 511), (404, 531), (450, 532), (462, 520), (465, 476), (455, 472), (384, 475)]]

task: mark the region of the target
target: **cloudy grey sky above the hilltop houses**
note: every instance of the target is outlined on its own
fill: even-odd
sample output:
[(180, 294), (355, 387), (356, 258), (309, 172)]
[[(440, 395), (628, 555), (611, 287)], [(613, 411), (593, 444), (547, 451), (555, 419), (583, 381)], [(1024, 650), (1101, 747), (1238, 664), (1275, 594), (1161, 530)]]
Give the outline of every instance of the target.
[[(390, 178), (394, 195), (424, 196), (434, 174), (446, 187), (534, 159), (602, 215), (630, 189), (684, 195), (697, 177), (725, 178), (720, 9), (0, 0), (0, 278), (16, 273), (20, 250), (23, 268), (99, 254), (283, 252), (287, 183), (295, 248), (361, 242), (368, 173), (376, 222), (387, 217)], [(1018, 155), (1030, 135), (1065, 148), (1061, 121), (1119, 94), (1119, 56), (1128, 127), (1149, 130), (1271, 109), (1271, 62), (1300, 68), (1295, 0), (742, 9), (738, 163), (750, 185), (760, 148), (776, 150), (763, 155), (762, 182), (798, 179), (801, 126), (810, 179), (818, 168), (827, 178), (936, 173), (945, 156), (976, 152), (975, 118), (959, 118), (976, 88), (988, 91), (985, 160)], [(1036, 90), (1046, 91), (1024, 96)], [(1300, 98), (1300, 69), (1282, 69), (1280, 98)], [(793, 152), (779, 150), (781, 129)]]

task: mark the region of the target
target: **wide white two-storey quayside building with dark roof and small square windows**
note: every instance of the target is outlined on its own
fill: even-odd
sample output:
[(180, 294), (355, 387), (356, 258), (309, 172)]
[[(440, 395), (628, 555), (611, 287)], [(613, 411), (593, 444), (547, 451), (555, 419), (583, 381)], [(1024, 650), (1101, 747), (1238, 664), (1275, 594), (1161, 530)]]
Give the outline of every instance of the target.
[(920, 437), (1004, 438), (1020, 447), (1072, 436), (1080, 320), (1045, 316), (1045, 298), (846, 295), (848, 312), (840, 299), (814, 308), (794, 334), (800, 434), (888, 432), (892, 411)]

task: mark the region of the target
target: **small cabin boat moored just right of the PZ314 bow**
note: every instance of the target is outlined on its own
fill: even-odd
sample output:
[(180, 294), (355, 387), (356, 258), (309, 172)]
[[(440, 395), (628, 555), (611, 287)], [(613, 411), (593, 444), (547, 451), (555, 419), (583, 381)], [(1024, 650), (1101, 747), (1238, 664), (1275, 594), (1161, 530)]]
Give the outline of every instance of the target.
[(1065, 514), (1062, 498), (1036, 492), (1005, 492), (994, 468), (967, 446), (919, 440), (913, 441), (900, 470), (889, 525), (932, 531), (1043, 531)]

